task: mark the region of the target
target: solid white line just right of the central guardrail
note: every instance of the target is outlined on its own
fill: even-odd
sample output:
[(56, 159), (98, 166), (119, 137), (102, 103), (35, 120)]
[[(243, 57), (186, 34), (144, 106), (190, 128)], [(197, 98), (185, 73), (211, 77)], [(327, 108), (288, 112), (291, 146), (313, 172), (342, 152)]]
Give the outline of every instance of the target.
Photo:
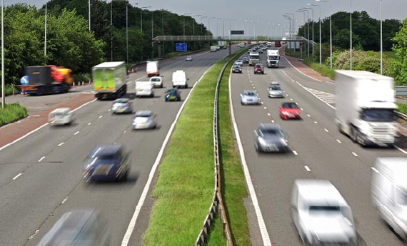
[(261, 214), (260, 206), (258, 205), (256, 191), (254, 190), (253, 183), (251, 183), (251, 176), (248, 171), (246, 158), (245, 158), (244, 150), (243, 150), (243, 145), (241, 144), (240, 135), (238, 133), (236, 118), (235, 118), (235, 114), (233, 111), (233, 103), (232, 103), (231, 74), (229, 74), (229, 86), (228, 87), (229, 87), (229, 107), (230, 107), (230, 111), (231, 111), (231, 120), (232, 120), (232, 124), (233, 124), (233, 130), (235, 131), (235, 134), (236, 134), (236, 142), (238, 144), (238, 151), (240, 153), (241, 165), (243, 167), (244, 177), (246, 178), (246, 185), (247, 185), (248, 191), (250, 193), (251, 201), (253, 202), (254, 210), (256, 211), (258, 227), (260, 228), (261, 238), (263, 239), (263, 245), (271, 246), (270, 236), (268, 235), (266, 223), (264, 222), (263, 215)]

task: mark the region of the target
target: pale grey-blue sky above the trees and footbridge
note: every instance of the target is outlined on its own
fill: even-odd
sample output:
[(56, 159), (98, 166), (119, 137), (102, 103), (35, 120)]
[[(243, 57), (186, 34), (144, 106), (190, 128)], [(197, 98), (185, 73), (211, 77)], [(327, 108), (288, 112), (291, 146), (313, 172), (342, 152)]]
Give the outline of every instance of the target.
[[(26, 2), (40, 8), (45, 1), (4, 0), (4, 4)], [(88, 4), (88, 1), (83, 1), (84, 4)], [(209, 26), (208, 17), (213, 17), (210, 20), (210, 29), (216, 36), (223, 36), (223, 23), (225, 35), (228, 34), (230, 26), (232, 30), (245, 30), (245, 35), (280, 36), (281, 31), (288, 30), (288, 20), (283, 17), (283, 14), (296, 14), (298, 24), (301, 24), (299, 21), (304, 21), (304, 14), (296, 11), (303, 7), (313, 7), (314, 20), (318, 21), (319, 7), (307, 6), (308, 3), (321, 5), (321, 19), (329, 17), (330, 6), (332, 14), (338, 11), (349, 12), (352, 9), (352, 11), (366, 11), (372, 18), (380, 19), (381, 2), (383, 20), (407, 18), (407, 0), (326, 0), (326, 2), (316, 0), (129, 0), (129, 2), (137, 3), (138, 7), (152, 6), (149, 10), (166, 9), (179, 15), (195, 16), (196, 21), (198, 23), (202, 21), (205, 26)], [(311, 12), (310, 10), (310, 19)], [(201, 18), (197, 15), (208, 17)], [(229, 21), (229, 19), (231, 20)], [(256, 29), (256, 33), (254, 33), (254, 29)]]

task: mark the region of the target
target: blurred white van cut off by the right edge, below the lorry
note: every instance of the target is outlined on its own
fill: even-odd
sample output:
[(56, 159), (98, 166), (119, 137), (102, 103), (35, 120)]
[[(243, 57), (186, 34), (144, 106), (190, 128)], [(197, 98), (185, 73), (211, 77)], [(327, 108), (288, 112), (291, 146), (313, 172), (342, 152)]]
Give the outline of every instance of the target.
[(407, 240), (407, 158), (377, 158), (371, 198), (379, 215)]

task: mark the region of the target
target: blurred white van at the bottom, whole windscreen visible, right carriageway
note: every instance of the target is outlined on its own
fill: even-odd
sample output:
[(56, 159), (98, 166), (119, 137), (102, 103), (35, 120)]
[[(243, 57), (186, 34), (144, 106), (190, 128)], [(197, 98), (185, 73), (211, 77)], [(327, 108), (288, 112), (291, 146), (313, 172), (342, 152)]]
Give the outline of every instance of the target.
[(356, 245), (351, 207), (328, 180), (296, 180), (291, 215), (306, 245)]

